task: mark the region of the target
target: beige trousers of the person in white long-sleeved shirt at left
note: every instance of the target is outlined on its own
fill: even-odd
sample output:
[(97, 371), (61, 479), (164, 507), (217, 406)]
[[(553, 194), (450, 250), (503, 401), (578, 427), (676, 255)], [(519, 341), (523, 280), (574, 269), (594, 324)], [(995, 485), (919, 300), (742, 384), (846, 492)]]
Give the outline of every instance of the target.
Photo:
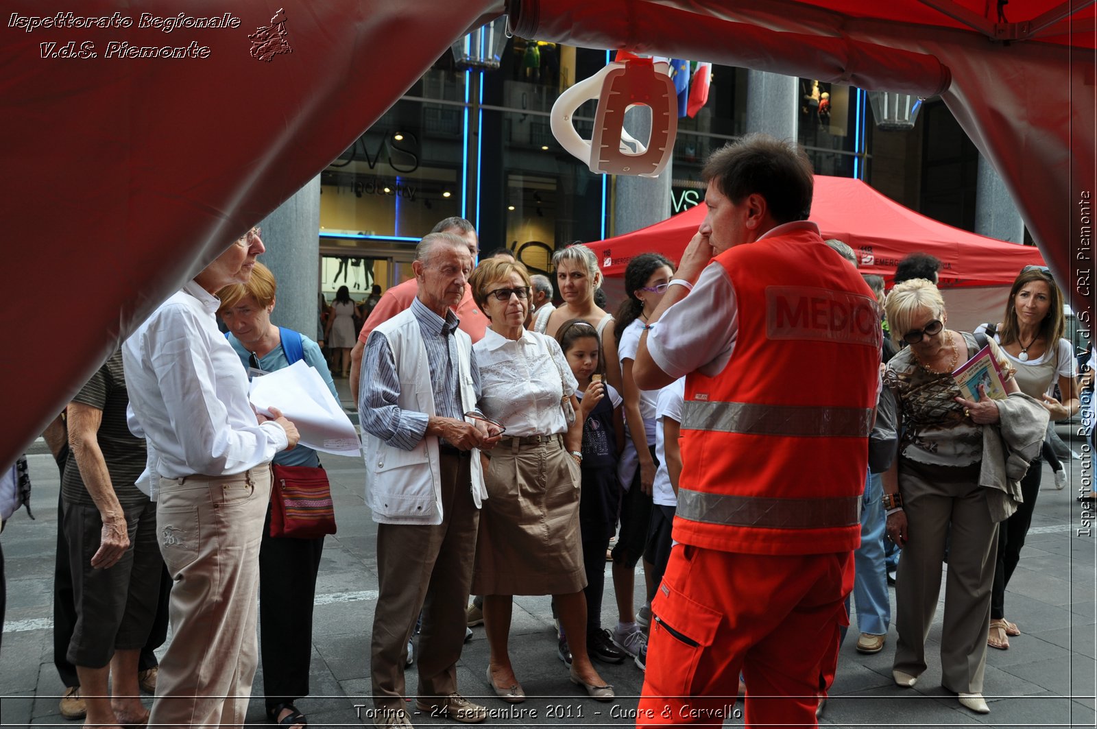
[(174, 584), (149, 725), (245, 722), (258, 665), (259, 543), (270, 467), (161, 481), (157, 538)]

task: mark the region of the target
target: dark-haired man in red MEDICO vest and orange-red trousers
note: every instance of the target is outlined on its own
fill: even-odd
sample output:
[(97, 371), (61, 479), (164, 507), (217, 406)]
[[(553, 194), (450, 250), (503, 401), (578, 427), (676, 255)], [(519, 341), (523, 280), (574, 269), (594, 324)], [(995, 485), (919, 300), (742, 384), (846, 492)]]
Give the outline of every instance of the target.
[(803, 149), (748, 135), (702, 176), (709, 213), (633, 365), (645, 390), (686, 377), (677, 543), (637, 724), (726, 718), (742, 671), (748, 726), (814, 726), (853, 583), (880, 323), (804, 220)]

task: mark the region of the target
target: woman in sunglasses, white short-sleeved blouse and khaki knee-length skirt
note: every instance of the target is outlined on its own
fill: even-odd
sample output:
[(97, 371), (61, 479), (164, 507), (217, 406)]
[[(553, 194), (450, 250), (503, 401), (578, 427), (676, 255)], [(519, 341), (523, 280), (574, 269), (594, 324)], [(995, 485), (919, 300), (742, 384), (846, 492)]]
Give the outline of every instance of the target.
[[(473, 592), (484, 595), (490, 659), (487, 678), (507, 702), (525, 699), (507, 650), (513, 595), (553, 595), (572, 648), (570, 681), (612, 700), (587, 654), (587, 584), (579, 538), (583, 423), (575, 377), (555, 339), (523, 327), (530, 305), (525, 267), (493, 258), (470, 279), (491, 321), (473, 346), (485, 415), (506, 433), (485, 464)], [(573, 413), (572, 416), (566, 415)]]

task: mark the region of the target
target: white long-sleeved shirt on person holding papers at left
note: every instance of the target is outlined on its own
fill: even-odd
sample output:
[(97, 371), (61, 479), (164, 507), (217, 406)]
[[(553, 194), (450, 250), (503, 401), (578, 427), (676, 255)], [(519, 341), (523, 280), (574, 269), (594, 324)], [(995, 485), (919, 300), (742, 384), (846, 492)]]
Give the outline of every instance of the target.
[(122, 345), (129, 430), (148, 439), (137, 486), (154, 498), (158, 476), (242, 473), (289, 445), (282, 426), (256, 420), (247, 373), (217, 330), (219, 303), (189, 281)]

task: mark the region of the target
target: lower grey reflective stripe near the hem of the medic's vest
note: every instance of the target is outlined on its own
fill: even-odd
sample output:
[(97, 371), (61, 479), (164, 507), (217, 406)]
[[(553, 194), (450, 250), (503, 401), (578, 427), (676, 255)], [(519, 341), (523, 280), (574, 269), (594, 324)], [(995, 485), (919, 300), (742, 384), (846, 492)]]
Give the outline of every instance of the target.
[(768, 498), (678, 490), (675, 515), (704, 524), (769, 529), (824, 529), (861, 521), (860, 496)]

